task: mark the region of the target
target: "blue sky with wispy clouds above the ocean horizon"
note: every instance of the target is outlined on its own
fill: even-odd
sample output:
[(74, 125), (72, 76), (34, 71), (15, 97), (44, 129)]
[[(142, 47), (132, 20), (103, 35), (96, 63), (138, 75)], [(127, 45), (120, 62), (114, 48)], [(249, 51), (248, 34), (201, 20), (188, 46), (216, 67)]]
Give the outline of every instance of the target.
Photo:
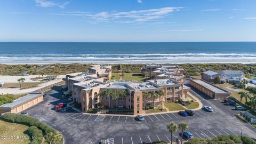
[(255, 0), (1, 0), (0, 41), (256, 41), (255, 6)]

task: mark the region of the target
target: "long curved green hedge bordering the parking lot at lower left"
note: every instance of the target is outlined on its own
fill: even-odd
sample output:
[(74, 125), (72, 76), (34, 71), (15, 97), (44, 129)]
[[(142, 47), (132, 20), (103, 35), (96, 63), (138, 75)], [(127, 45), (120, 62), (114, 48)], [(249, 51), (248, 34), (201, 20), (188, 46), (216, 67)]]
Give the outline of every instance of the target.
[[(58, 136), (59, 141), (57, 141), (57, 143), (62, 143), (62, 141), (63, 141), (63, 136), (62, 136), (62, 134), (60, 134), (59, 131), (53, 129), (52, 127), (46, 125), (43, 122), (40, 122), (37, 118), (27, 116), (27, 115), (7, 113), (7, 114), (4, 114), (1, 119), (6, 122), (18, 123), (18, 124), (23, 124), (23, 125), (27, 125), (27, 126), (35, 126), (39, 130), (42, 130), (45, 133), (45, 135), (52, 133), (52, 135), (51, 135), (52, 137), (55, 138)], [(45, 137), (45, 139), (47, 142), (53, 143), (53, 140), (55, 140), (55, 139), (52, 137)]]

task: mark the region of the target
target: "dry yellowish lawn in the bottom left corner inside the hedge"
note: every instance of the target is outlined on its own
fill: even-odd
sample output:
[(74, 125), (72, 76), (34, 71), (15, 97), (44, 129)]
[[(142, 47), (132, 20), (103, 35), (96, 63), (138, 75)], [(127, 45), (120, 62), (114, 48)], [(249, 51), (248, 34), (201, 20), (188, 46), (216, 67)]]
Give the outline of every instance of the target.
[[(25, 136), (27, 137), (27, 134), (24, 134), (23, 132), (25, 132), (28, 129), (28, 126), (26, 125), (22, 125), (22, 124), (15, 124), (15, 123), (8, 123), (8, 122), (4, 122), (2, 120), (0, 120), (0, 135), (1, 136), (11, 136), (11, 135), (21, 135), (21, 136)], [(29, 143), (30, 140), (29, 139), (11, 139), (11, 140), (4, 140), (1, 139), (0, 140), (0, 144), (16, 144), (16, 143)]]

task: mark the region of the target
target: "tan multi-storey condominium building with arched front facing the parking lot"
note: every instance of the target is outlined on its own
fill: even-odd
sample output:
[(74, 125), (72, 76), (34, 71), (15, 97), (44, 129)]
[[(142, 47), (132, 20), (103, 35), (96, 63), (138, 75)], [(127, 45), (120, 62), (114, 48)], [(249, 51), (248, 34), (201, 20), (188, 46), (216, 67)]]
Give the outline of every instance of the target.
[[(98, 105), (101, 105), (110, 108), (123, 107), (133, 109), (134, 115), (142, 114), (142, 109), (145, 106), (159, 106), (164, 102), (186, 99), (187, 92), (190, 90), (183, 83), (174, 81), (171, 78), (149, 80), (142, 83), (105, 83), (98, 80), (91, 79), (89, 81), (78, 82), (71, 87), (74, 101), (81, 103), (82, 111), (85, 113), (88, 109), (97, 108)], [(125, 91), (126, 94), (119, 95), (118, 99), (115, 99), (113, 95), (100, 94), (102, 91), (108, 89), (111, 91)], [(143, 97), (145, 92), (153, 94), (156, 91), (163, 91), (163, 97), (156, 98), (155, 100), (153, 96), (147, 100)]]

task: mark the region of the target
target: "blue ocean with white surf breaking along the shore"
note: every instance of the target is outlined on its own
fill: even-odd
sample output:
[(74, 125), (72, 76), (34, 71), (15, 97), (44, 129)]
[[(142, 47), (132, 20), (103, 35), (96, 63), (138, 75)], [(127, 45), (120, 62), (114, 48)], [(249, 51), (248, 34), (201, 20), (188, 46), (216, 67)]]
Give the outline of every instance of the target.
[(1, 42), (0, 63), (255, 63), (256, 42)]

